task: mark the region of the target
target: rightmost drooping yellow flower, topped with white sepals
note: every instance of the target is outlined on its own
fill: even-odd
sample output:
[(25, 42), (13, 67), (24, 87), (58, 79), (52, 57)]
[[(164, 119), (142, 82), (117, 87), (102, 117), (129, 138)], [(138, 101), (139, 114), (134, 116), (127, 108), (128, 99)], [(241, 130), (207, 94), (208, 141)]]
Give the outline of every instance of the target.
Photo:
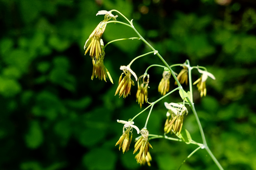
[(215, 80), (215, 77), (212, 73), (210, 72), (207, 72), (207, 71), (203, 71), (199, 68), (198, 69), (198, 72), (200, 72), (202, 75), (200, 78), (198, 78), (198, 80), (196, 80), (193, 85), (196, 84), (196, 87), (198, 89), (198, 91), (200, 92), (200, 96), (203, 97), (203, 96), (206, 96), (206, 79), (208, 78), (208, 76), (210, 78), (212, 78), (213, 80)]

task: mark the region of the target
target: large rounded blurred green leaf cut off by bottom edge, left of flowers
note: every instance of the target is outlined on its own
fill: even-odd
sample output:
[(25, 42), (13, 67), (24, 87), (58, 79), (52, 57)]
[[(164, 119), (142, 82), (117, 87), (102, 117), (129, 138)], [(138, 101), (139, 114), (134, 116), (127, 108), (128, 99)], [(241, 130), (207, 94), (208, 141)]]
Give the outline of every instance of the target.
[(82, 163), (88, 170), (114, 170), (116, 154), (105, 148), (94, 148), (86, 153)]

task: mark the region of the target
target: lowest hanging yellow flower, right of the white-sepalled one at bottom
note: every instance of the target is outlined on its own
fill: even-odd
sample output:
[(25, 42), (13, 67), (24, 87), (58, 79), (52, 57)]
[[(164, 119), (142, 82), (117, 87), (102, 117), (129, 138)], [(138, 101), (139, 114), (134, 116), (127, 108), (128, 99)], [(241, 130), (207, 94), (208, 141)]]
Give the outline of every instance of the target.
[(149, 148), (152, 148), (152, 146), (148, 142), (148, 134), (149, 134), (148, 130), (143, 128), (140, 130), (140, 134), (141, 134), (140, 139), (134, 145), (133, 154), (138, 150), (140, 150), (139, 153), (136, 155), (136, 160), (138, 163), (143, 163), (144, 159), (148, 156)]

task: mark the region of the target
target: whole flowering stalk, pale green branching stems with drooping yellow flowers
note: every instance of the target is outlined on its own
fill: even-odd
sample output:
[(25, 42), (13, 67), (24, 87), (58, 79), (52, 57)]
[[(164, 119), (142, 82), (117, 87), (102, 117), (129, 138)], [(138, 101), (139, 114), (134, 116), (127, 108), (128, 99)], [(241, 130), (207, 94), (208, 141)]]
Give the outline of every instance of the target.
[[(116, 17), (112, 15), (112, 12), (117, 12), (118, 14), (120, 14), (121, 16), (124, 17), (124, 19), (126, 21), (128, 21), (128, 23), (124, 23), (121, 21), (116, 21)], [(184, 114), (188, 113), (187, 108), (184, 106), (185, 101), (187, 102), (186, 104), (189, 104), (195, 118), (196, 118), (196, 122), (198, 124), (199, 127), (199, 131), (202, 137), (202, 144), (201, 143), (197, 143), (193, 140), (190, 141), (190, 143), (198, 145), (199, 147), (197, 149), (195, 149), (187, 158), (189, 158), (190, 156), (192, 156), (192, 154), (194, 154), (197, 150), (199, 149), (206, 149), (206, 151), (208, 152), (208, 154), (211, 156), (212, 160), (215, 162), (215, 164), (218, 166), (218, 168), (220, 170), (223, 170), (222, 166), (220, 165), (220, 163), (218, 162), (218, 160), (215, 158), (215, 156), (212, 154), (211, 150), (208, 148), (207, 142), (206, 142), (206, 138), (204, 135), (204, 131), (202, 129), (202, 125), (200, 123), (200, 120), (198, 118), (194, 103), (193, 103), (193, 92), (192, 92), (192, 76), (191, 76), (191, 72), (192, 69), (197, 68), (198, 72), (201, 73), (201, 77), (196, 80), (196, 82), (194, 82), (194, 84), (197, 84), (197, 88), (198, 91), (200, 92), (200, 96), (206, 96), (206, 79), (208, 78), (208, 76), (212, 79), (215, 79), (215, 77), (213, 76), (213, 74), (209, 73), (206, 71), (205, 68), (201, 67), (201, 66), (197, 66), (197, 67), (191, 67), (189, 61), (187, 60), (184, 64), (174, 64), (172, 66), (183, 66), (183, 69), (181, 70), (180, 74), (178, 74), (178, 76), (175, 75), (175, 72), (172, 70), (172, 66), (169, 66), (168, 63), (166, 63), (166, 61), (163, 59), (163, 57), (158, 53), (158, 51), (156, 51), (156, 49), (154, 49), (154, 47), (152, 47), (152, 45), (150, 45), (150, 43), (148, 43), (148, 41), (146, 41), (144, 39), (144, 37), (142, 37), (140, 35), (140, 33), (136, 30), (136, 28), (134, 27), (132, 20), (128, 20), (128, 18), (126, 18), (122, 13), (120, 13), (117, 10), (111, 10), (109, 12), (107, 11), (100, 11), (98, 12), (98, 14), (105, 14), (105, 20), (102, 21), (102, 23), (100, 23), (97, 27), (96, 27), (96, 32), (94, 31), (92, 33), (92, 35), (90, 35), (89, 39), (86, 41), (85, 44), (85, 48), (88, 47), (88, 49), (86, 49), (86, 53), (89, 51), (90, 48), (90, 56), (92, 58), (96, 58), (96, 60), (98, 60), (102, 54), (102, 50), (104, 51), (104, 48), (115, 41), (121, 41), (121, 40), (126, 40), (126, 39), (116, 39), (113, 41), (110, 41), (109, 43), (107, 43), (104, 47), (101, 47), (99, 45), (102, 33), (104, 32), (104, 29), (106, 28), (106, 24), (108, 23), (120, 23), (123, 25), (126, 25), (130, 28), (132, 28), (134, 30), (134, 32), (138, 35), (138, 37), (136, 37), (136, 39), (140, 39), (142, 40), (152, 51), (140, 55), (138, 57), (135, 57), (127, 66), (121, 66), (120, 69), (123, 70), (123, 73), (121, 74), (120, 78), (119, 78), (119, 83), (118, 83), (118, 88), (116, 90), (116, 94), (118, 94), (119, 92), (119, 97), (123, 96), (124, 98), (126, 98), (128, 96), (128, 94), (130, 94), (130, 89), (131, 89), (131, 85), (134, 85), (134, 81), (131, 79), (131, 75), (133, 75), (136, 79), (136, 81), (138, 80), (136, 74), (131, 70), (130, 66), (131, 64), (136, 61), (137, 59), (139, 59), (140, 57), (144, 57), (150, 53), (154, 53), (154, 55), (157, 55), (158, 58), (162, 61), (162, 63), (164, 64), (164, 66), (158, 65), (158, 64), (153, 64), (151, 66), (149, 66), (146, 71), (145, 74), (139, 77), (139, 81), (141, 80), (141, 78), (143, 77), (143, 81), (139, 82), (138, 81), (138, 91), (136, 94), (136, 98), (137, 98), (137, 102), (140, 104), (140, 107), (142, 107), (142, 104), (144, 104), (144, 101), (147, 103), (148, 102), (148, 81), (144, 82), (144, 77), (147, 75), (149, 78), (149, 75), (147, 74), (147, 71), (150, 67), (152, 66), (160, 66), (160, 67), (164, 67), (165, 71), (168, 72), (168, 74), (171, 74), (175, 80), (175, 84), (178, 86), (177, 88), (175, 88), (174, 90), (172, 90), (171, 92), (169, 91), (169, 84), (170, 82), (168, 81), (163, 81), (161, 85), (159, 85), (158, 90), (160, 90), (160, 93), (164, 96), (162, 96), (161, 98), (159, 98), (158, 100), (156, 100), (155, 102), (148, 102), (148, 104), (150, 104), (149, 106), (147, 106), (144, 110), (142, 110), (140, 113), (138, 113), (137, 115), (135, 115), (132, 119), (130, 119), (129, 121), (119, 121), (119, 123), (123, 123), (124, 128), (123, 128), (123, 134), (120, 137), (120, 139), (118, 140), (118, 142), (116, 143), (116, 145), (119, 145), (119, 150), (122, 148), (123, 153), (129, 150), (129, 146), (130, 143), (132, 141), (132, 128), (135, 128), (138, 131), (138, 127), (136, 127), (135, 125), (133, 125), (133, 120), (140, 115), (141, 113), (143, 113), (144, 111), (146, 111), (146, 109), (150, 108), (150, 111), (148, 113), (148, 117), (146, 119), (146, 123), (144, 128), (140, 131), (141, 133), (141, 137), (138, 139), (138, 141), (136, 142), (135, 146), (134, 146), (134, 153), (137, 152), (139, 150), (139, 153), (135, 156), (136, 160), (138, 163), (140, 164), (145, 164), (147, 163), (150, 166), (150, 161), (152, 160), (152, 157), (149, 153), (149, 148), (152, 146), (150, 145), (150, 143), (148, 142), (150, 139), (155, 139), (155, 138), (165, 138), (165, 139), (169, 139), (169, 140), (174, 140), (174, 141), (182, 141), (181, 139), (175, 139), (175, 138), (170, 138), (167, 137), (166, 134), (168, 132), (172, 132), (174, 134), (177, 134), (178, 136), (181, 134), (181, 130), (182, 130), (182, 125), (183, 125), (183, 116)], [(98, 15), (97, 14), (97, 15)], [(113, 21), (109, 21), (110, 18), (113, 19)], [(98, 32), (97, 32), (98, 31)], [(128, 39), (135, 39), (135, 38), (128, 38)], [(102, 59), (102, 64), (103, 64), (103, 59)], [(102, 66), (102, 68), (104, 68)], [(204, 70), (201, 70), (200, 68), (203, 68)], [(98, 73), (98, 72), (95, 72)], [(122, 77), (122, 75), (124, 74), (124, 77)], [(96, 75), (96, 74), (95, 74)], [(98, 73), (98, 76), (101, 75), (100, 73)], [(163, 74), (164, 75), (164, 74)], [(102, 78), (104, 78), (104, 80), (106, 79), (104, 76), (99, 76)], [(164, 77), (164, 76), (163, 76)], [(170, 78), (170, 77), (169, 77)], [(183, 90), (183, 87), (181, 86), (181, 84), (183, 83), (188, 84), (189, 83), (189, 93), (186, 93)], [(163, 98), (165, 98), (166, 96), (172, 94), (174, 91), (176, 90), (180, 90), (181, 92), (181, 97), (183, 100), (183, 104), (175, 104), (175, 103), (170, 103), (168, 105), (175, 107), (175, 109), (171, 108), (171, 110), (174, 110), (173, 113), (175, 114), (172, 118), (168, 117), (168, 119), (166, 120), (166, 125), (165, 125), (165, 135), (164, 136), (157, 136), (157, 135), (151, 135), (152, 137), (148, 138), (150, 136), (148, 130), (147, 130), (147, 123), (150, 117), (150, 114), (152, 112), (152, 109), (154, 107), (154, 105), (159, 102), (160, 100), (162, 100)], [(167, 93), (167, 94), (166, 94)], [(189, 95), (188, 95), (189, 94)], [(168, 106), (169, 107), (169, 106)], [(166, 107), (167, 108), (167, 107)], [(131, 133), (131, 137), (129, 136)], [(186, 158), (186, 159), (187, 159)], [(184, 160), (185, 162), (186, 160)], [(183, 162), (183, 163), (184, 163)], [(183, 164), (182, 163), (182, 164)]]

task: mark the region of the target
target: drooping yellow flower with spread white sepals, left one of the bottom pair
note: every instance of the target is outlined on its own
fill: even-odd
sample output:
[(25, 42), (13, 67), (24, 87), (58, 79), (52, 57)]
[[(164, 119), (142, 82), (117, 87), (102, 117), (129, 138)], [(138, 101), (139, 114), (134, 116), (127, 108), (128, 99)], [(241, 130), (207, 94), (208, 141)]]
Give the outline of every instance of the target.
[[(136, 129), (138, 134), (140, 133), (140, 129), (137, 126), (133, 125), (133, 121), (117, 120), (117, 122), (124, 124), (123, 134), (116, 143), (116, 145), (119, 144), (119, 150), (122, 148), (122, 151), (124, 153), (125, 151), (127, 152), (129, 150), (130, 143), (132, 141), (132, 128)], [(130, 133), (131, 137), (129, 138)]]

